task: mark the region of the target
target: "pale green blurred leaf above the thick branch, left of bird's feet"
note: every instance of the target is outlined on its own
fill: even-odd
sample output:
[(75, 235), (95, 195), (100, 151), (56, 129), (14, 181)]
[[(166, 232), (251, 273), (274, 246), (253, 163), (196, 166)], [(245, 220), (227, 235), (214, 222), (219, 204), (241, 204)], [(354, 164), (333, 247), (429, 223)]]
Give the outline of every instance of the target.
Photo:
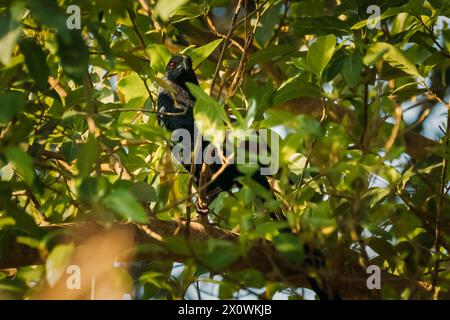
[(137, 223), (148, 223), (149, 217), (133, 194), (125, 189), (114, 189), (103, 200), (105, 205), (122, 218)]

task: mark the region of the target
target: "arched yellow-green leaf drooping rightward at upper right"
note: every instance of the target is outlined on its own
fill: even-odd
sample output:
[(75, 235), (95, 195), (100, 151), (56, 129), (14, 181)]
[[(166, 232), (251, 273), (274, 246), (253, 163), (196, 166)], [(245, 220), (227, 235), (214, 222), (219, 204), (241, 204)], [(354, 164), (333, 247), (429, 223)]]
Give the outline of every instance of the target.
[(392, 67), (400, 69), (411, 76), (419, 76), (416, 66), (408, 60), (403, 52), (386, 42), (378, 42), (369, 47), (367, 55), (364, 57), (364, 63), (366, 65), (373, 64), (381, 57)]

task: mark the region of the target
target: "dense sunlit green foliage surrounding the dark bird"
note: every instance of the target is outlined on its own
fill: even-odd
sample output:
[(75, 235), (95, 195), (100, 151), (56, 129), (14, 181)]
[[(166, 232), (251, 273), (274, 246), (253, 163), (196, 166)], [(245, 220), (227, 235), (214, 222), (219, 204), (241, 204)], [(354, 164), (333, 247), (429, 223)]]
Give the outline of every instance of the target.
[[(70, 5), (80, 29), (68, 28)], [(45, 296), (64, 280), (81, 249), (58, 226), (195, 221), (190, 175), (154, 112), (165, 65), (183, 52), (211, 130), (283, 137), (277, 200), (258, 203), (265, 191), (244, 176), (210, 205), (235, 241), (153, 229), (159, 245), (124, 245), (165, 258), (139, 272), (116, 263), (123, 292), (134, 281), (147, 299), (304, 298), (275, 262), (236, 267), (262, 241), (338, 293), (349, 269), (377, 265), (395, 281), (366, 298), (450, 298), (448, 16), (447, 0), (0, 0), (0, 297)], [(271, 219), (276, 208), (286, 220)], [(16, 244), (44, 263), (12, 260)], [(305, 244), (322, 269), (305, 266)]]

